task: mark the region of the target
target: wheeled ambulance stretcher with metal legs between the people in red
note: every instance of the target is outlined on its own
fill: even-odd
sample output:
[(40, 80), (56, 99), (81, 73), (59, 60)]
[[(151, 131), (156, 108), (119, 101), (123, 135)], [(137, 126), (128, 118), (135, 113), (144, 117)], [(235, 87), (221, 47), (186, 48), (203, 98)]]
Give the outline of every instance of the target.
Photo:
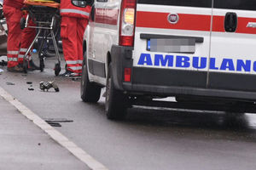
[[(26, 18), (20, 20), (21, 29), (35, 28), (37, 29), (36, 37), (33, 39), (31, 45), (26, 50), (23, 57), (23, 69), (27, 73), (28, 58), (27, 55), (31, 53), (34, 43), (38, 39), (42, 39), (38, 48), (39, 67), (40, 71), (44, 71), (44, 54), (42, 49), (47, 40), (52, 40), (55, 47), (55, 54), (57, 56), (57, 63), (55, 63), (55, 76), (61, 72), (61, 56), (57, 47), (56, 36), (60, 29), (60, 11), (59, 3), (51, 0), (25, 0), (26, 7), (22, 8), (26, 12)], [(29, 25), (30, 20), (35, 24)], [(38, 41), (39, 42), (39, 41)]]

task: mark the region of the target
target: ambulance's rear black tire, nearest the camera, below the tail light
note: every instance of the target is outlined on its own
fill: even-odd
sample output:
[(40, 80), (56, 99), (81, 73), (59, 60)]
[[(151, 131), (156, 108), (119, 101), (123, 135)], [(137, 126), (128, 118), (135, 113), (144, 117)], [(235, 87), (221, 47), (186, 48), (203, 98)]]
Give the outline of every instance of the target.
[(108, 67), (105, 111), (108, 119), (122, 120), (126, 116), (128, 97), (114, 88), (112, 75), (112, 65), (110, 64)]

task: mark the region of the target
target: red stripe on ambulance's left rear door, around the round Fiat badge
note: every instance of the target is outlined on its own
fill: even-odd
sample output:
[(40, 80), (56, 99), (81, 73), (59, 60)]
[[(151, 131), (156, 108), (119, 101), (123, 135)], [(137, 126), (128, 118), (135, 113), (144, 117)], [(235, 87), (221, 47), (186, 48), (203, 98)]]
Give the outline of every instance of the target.
[(210, 31), (211, 15), (202, 14), (178, 14), (177, 24), (171, 24), (167, 20), (170, 13), (153, 13), (137, 11), (137, 27), (163, 28), (191, 31)]

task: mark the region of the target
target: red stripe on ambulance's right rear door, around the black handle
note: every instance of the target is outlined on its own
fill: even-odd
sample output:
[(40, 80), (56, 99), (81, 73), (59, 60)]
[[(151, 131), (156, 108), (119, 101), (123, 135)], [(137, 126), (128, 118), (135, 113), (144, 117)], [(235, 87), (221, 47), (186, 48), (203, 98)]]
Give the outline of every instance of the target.
[[(212, 31), (224, 32), (224, 19), (224, 16), (213, 16)], [(256, 28), (247, 28), (249, 22), (256, 23), (256, 19), (239, 17), (237, 22), (238, 24), (236, 28), (236, 33), (256, 34)]]

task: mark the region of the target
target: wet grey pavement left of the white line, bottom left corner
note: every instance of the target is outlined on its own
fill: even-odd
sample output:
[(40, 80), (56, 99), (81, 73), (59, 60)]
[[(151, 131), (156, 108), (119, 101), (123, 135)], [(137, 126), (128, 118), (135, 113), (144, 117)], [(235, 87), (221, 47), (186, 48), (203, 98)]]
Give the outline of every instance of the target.
[(89, 169), (0, 97), (0, 169)]

